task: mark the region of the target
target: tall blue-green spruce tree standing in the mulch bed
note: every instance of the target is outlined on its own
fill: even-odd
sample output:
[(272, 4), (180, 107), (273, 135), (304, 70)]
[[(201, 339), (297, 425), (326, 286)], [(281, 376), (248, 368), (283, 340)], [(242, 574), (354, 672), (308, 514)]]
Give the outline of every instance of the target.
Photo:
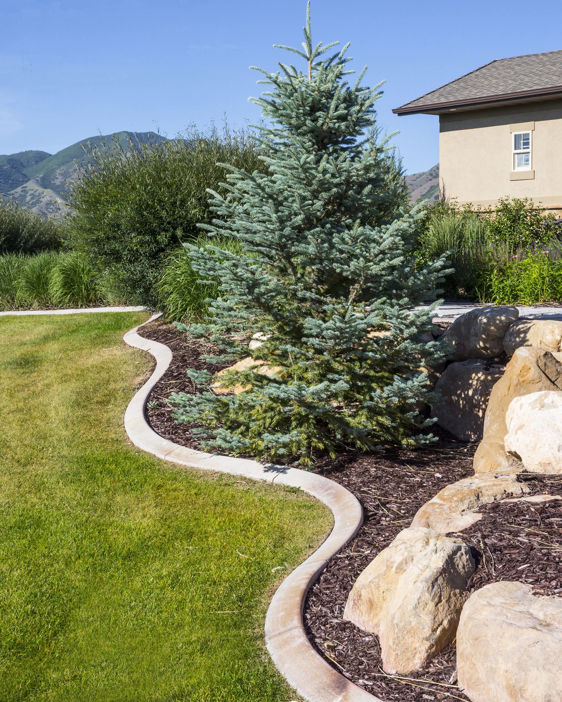
[[(405, 206), (400, 163), (377, 141), (381, 84), (360, 84), (366, 67), (348, 84), (349, 44), (329, 58), (338, 42), (313, 47), (310, 4), (304, 37), (304, 51), (277, 48), (306, 60), (306, 72), (257, 69), (272, 86), (251, 98), (270, 121), (257, 137), (268, 174), (225, 166), (228, 193), (209, 190), (221, 219), (202, 226), (244, 253), (185, 244), (193, 268), (221, 282), (221, 298), (205, 324), (178, 327), (225, 351), (211, 362), (251, 356), (254, 366), (221, 376), (224, 388), (247, 390), (214, 395), (216, 376), (188, 371), (207, 392), (169, 399), (178, 422), (202, 425), (193, 430), (202, 447), (301, 465), (337, 444), (432, 439), (421, 432), (433, 420), (414, 407), (433, 399), (424, 367), (440, 350), (420, 336), (437, 303), (414, 307), (435, 298), (448, 272), (445, 257), (419, 268), (410, 253), (423, 212)], [(256, 373), (263, 362), (279, 370)]]

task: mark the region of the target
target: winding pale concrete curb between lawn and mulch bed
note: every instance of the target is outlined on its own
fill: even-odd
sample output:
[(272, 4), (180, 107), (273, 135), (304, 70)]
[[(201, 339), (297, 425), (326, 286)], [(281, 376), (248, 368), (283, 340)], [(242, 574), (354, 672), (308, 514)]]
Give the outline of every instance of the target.
[[(153, 314), (148, 322), (159, 316), (160, 314)], [(245, 458), (215, 456), (178, 446), (159, 436), (145, 420), (145, 404), (152, 388), (166, 372), (172, 353), (164, 344), (139, 336), (138, 328), (128, 331), (123, 337), (124, 341), (154, 356), (156, 368), (150, 379), (131, 399), (125, 412), (125, 430), (135, 446), (164, 461), (190, 468), (244, 475), (268, 482), (276, 480), (299, 487), (332, 510), (332, 533), (313, 555), (285, 578), (271, 600), (266, 616), (266, 645), (273, 662), (287, 682), (309, 702), (380, 702), (379, 698), (353, 684), (326, 663), (308, 641), (302, 618), (308, 589), (327, 566), (329, 559), (359, 531), (363, 514), (358, 499), (333, 480), (306, 470), (258, 463)]]

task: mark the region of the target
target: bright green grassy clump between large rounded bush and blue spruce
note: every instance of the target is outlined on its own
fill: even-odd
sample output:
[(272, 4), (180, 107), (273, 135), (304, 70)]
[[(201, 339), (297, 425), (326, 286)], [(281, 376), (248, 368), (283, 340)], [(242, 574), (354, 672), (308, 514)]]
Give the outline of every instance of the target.
[[(206, 234), (200, 234), (197, 246), (216, 246), (218, 249), (241, 253), (242, 246), (235, 239), (212, 239)], [(157, 283), (159, 309), (164, 312), (166, 319), (173, 322), (183, 322), (185, 319), (202, 319), (209, 311), (206, 300), (218, 297), (217, 279), (213, 284), (202, 282), (191, 265), (191, 259), (185, 247), (181, 246), (166, 259), (166, 267)]]

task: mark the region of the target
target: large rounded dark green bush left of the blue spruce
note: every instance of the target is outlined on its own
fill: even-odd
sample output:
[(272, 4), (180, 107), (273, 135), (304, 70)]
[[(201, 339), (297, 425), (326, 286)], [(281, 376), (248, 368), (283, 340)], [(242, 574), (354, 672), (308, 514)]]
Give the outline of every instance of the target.
[(244, 131), (190, 129), (174, 140), (150, 140), (126, 152), (119, 140), (91, 147), (69, 184), (67, 232), (91, 267), (107, 270), (119, 292), (157, 306), (155, 285), (181, 241), (197, 239), (211, 220), (207, 188), (226, 190), (219, 162), (265, 171)]

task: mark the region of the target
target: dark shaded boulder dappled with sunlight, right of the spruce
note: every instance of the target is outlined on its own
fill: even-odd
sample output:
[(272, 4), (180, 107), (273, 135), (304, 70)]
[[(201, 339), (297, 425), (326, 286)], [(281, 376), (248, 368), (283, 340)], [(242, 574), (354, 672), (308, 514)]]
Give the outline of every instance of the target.
[(445, 401), (431, 407), (431, 416), (462, 441), (481, 441), (490, 392), (504, 371), (504, 364), (480, 359), (450, 364), (435, 386)]

